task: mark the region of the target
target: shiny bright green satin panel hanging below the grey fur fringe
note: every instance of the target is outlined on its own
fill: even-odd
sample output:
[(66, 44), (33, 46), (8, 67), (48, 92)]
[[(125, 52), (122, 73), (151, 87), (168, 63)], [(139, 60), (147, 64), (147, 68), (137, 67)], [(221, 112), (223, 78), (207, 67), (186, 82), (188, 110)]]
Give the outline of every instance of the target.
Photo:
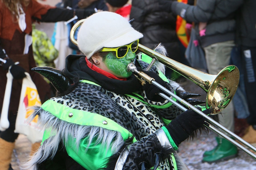
[[(76, 139), (72, 138), (68, 141), (68, 144), (65, 144), (68, 155), (78, 162), (87, 170), (96, 170), (103, 168), (106, 164), (106, 158), (112, 156), (111, 149), (101, 147), (101, 144), (91, 143), (88, 147), (87, 138), (83, 138), (80, 142), (79, 147), (77, 148)], [(87, 151), (85, 152), (85, 150)]]

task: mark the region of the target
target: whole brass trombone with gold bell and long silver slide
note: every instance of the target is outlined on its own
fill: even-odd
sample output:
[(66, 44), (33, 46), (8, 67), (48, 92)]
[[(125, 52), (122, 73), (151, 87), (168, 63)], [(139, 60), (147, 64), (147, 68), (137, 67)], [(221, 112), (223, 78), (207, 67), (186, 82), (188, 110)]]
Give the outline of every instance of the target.
[[(78, 45), (74, 37), (75, 31), (79, 26), (83, 24), (84, 20), (85, 19), (78, 21), (70, 31), (70, 39), (75, 45)], [(193, 69), (191, 67), (188, 67), (179, 62), (176, 62), (141, 44), (139, 44), (138, 50), (152, 58), (152, 61), (149, 64), (149, 67), (147, 68), (147, 70), (149, 70), (150, 67), (152, 67), (155, 61), (158, 61), (160, 63), (163, 63), (165, 66), (171, 68), (172, 70), (180, 73), (185, 78), (188, 78), (190, 81), (194, 82), (196, 85), (201, 87), (205, 92), (207, 92), (206, 107), (212, 111), (212, 115), (216, 115), (220, 113), (228, 105), (228, 103), (232, 100), (233, 96), (236, 93), (236, 89), (239, 83), (239, 70), (234, 65), (229, 65), (225, 67), (217, 75), (211, 75), (211, 74), (207, 74), (199, 70)], [(240, 148), (241, 150), (243, 150), (244, 152), (252, 156), (254, 159), (256, 159), (255, 154), (253, 154), (251, 151), (247, 150), (244, 146), (237, 143), (235, 140), (231, 138), (231, 137), (235, 138), (236, 140), (238, 140), (239, 142), (241, 142), (242, 144), (244, 144), (245, 146), (247, 146), (248, 148), (256, 152), (256, 148), (251, 144), (249, 144), (248, 142), (244, 141), (241, 137), (229, 131), (228, 129), (220, 125), (218, 122), (214, 121), (211, 117), (205, 115), (202, 111), (198, 110), (196, 107), (188, 103), (187, 101), (181, 99), (179, 96), (175, 95), (171, 91), (164, 88), (162, 85), (158, 84), (153, 78), (149, 77), (143, 72), (138, 71), (133, 63), (130, 63), (127, 66), (127, 70), (132, 71), (134, 74), (136, 74), (137, 76), (140, 76), (141, 78), (148, 81), (149, 83), (156, 85), (158, 88), (160, 88), (161, 90), (163, 90), (164, 92), (166, 92), (167, 94), (169, 94), (170, 96), (178, 100), (185, 107), (182, 106), (180, 103), (173, 101), (170, 97), (166, 96), (164, 93), (161, 93), (161, 92), (159, 93), (160, 96), (170, 101), (175, 106), (182, 109), (183, 111), (186, 111), (188, 108), (195, 111), (199, 115), (203, 116), (207, 120), (205, 121), (204, 126), (208, 127), (215, 133), (224, 137), (230, 143), (234, 144), (236, 147)], [(226, 134), (224, 134), (223, 132), (215, 128), (211, 123), (216, 127), (218, 127), (219, 129), (222, 129), (231, 137), (227, 136)]]

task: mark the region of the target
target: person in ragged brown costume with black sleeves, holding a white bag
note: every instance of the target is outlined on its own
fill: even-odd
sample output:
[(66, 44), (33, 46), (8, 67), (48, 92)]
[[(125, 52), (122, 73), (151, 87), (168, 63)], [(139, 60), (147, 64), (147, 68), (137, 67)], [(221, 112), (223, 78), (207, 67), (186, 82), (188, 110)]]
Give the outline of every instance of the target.
[[(22, 79), (25, 71), (28, 72), (36, 85), (42, 102), (53, 94), (50, 85), (44, 79), (30, 69), (35, 67), (35, 60), (32, 50), (32, 23), (57, 22), (69, 20), (77, 15), (83, 19), (94, 11), (68, 10), (43, 5), (36, 0), (0, 0), (0, 58), (6, 62), (0, 63), (0, 109), (3, 107), (4, 91), (6, 87), (6, 73), (10, 68), (13, 76), (12, 94), (8, 112), (10, 127), (0, 134), (0, 169), (12, 169), (10, 166), (12, 151), (17, 139), (14, 133), (15, 121), (19, 107)], [(30, 40), (30, 41), (29, 41)], [(19, 64), (14, 64), (19, 62)], [(32, 149), (39, 147), (39, 144), (32, 144)], [(34, 149), (33, 149), (34, 150)]]

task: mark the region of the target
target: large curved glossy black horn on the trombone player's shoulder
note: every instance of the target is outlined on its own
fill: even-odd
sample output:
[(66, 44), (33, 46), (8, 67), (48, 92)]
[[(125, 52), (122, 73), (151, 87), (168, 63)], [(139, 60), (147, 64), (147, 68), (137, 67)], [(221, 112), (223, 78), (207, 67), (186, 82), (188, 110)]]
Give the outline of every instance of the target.
[(74, 83), (64, 72), (52, 67), (34, 67), (31, 70), (47, 78), (60, 93), (65, 92)]

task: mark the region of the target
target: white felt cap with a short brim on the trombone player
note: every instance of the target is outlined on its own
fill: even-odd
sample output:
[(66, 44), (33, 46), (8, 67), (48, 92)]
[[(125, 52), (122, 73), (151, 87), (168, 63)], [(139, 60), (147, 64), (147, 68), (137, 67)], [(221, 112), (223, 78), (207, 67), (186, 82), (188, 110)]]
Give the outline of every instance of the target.
[(91, 58), (101, 48), (120, 47), (143, 37), (130, 23), (114, 12), (101, 11), (86, 18), (77, 35), (78, 48)]

